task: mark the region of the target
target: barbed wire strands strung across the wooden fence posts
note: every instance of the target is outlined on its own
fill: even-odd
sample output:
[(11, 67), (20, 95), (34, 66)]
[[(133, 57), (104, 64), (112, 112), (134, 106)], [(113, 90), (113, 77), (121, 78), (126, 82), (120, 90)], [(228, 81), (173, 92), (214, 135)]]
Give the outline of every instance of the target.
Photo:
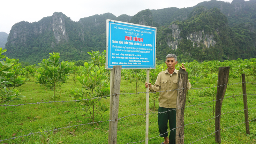
[[(250, 83), (250, 84), (256, 84), (256, 83), (251, 83), (251, 82), (241, 82), (241, 83), (232, 83), (232, 84), (224, 84), (224, 85), (234, 85), (234, 84), (242, 84), (242, 83)], [(223, 85), (218, 85), (218, 86), (223, 86)], [(204, 87), (204, 88), (190, 88), (190, 89), (208, 89), (208, 88), (215, 88), (215, 87), (218, 87), (218, 86), (213, 86), (213, 87)], [(182, 89), (187, 89), (187, 88), (182, 88)], [(182, 90), (182, 89), (176, 89), (176, 90)], [(168, 91), (174, 91), (174, 90), (168, 90)], [(159, 91), (159, 92), (166, 92), (166, 91)], [(147, 93), (147, 92), (137, 92), (137, 93), (119, 93), (120, 95), (131, 95), (131, 94), (139, 94), (139, 93)], [(148, 93), (155, 93), (155, 92), (148, 92)], [(115, 94), (112, 94), (112, 95), (115, 95)], [(92, 100), (92, 99), (97, 99), (97, 98), (107, 98), (107, 97), (110, 97), (112, 95), (107, 95), (107, 96), (103, 96), (103, 97), (96, 97), (96, 98), (91, 98), (91, 99), (82, 99), (82, 100)], [(218, 99), (218, 100), (224, 100), (226, 98), (230, 98), (230, 97), (235, 97), (235, 96), (243, 96), (244, 94), (238, 94), (238, 95), (232, 95), (232, 96), (228, 96), (228, 97), (225, 97), (223, 99)], [(247, 94), (247, 95), (251, 95), (251, 96), (255, 96), (256, 94)], [(27, 104), (18, 104), (18, 105), (8, 105), (8, 104), (5, 104), (5, 105), (0, 105), (0, 106), (3, 106), (3, 107), (8, 107), (8, 106), (23, 106), (23, 105), (31, 105), (31, 104), (46, 104), (46, 103), (65, 103), (65, 102), (77, 102), (77, 101), (82, 101), (82, 100), (69, 100), (69, 101), (48, 101), (48, 102), (37, 102), (37, 103), (27, 103)], [(192, 106), (199, 106), (199, 105), (203, 105), (203, 104), (206, 104), (206, 103), (210, 103), (212, 101), (218, 101), (218, 100), (211, 100), (211, 101), (207, 101), (205, 103), (201, 103), (201, 104), (196, 104), (196, 105), (189, 105), (189, 106), (186, 106), (186, 107), (192, 107)], [(185, 107), (185, 108), (186, 108)], [(252, 107), (252, 108), (247, 108), (248, 109), (255, 109), (256, 107)], [(182, 108), (178, 108), (178, 109), (182, 109)], [(172, 110), (177, 110), (177, 109), (172, 109)], [(170, 110), (170, 111), (172, 111)], [(220, 115), (224, 115), (224, 114), (228, 114), (228, 113), (236, 113), (236, 112), (241, 112), (241, 111), (244, 111), (246, 109), (241, 109), (241, 110), (238, 110), (238, 111), (231, 111), (231, 112), (226, 112), (226, 113), (222, 113)], [(166, 111), (168, 112), (168, 111)], [(124, 119), (124, 118), (127, 118), (129, 116), (136, 116), (136, 115), (146, 115), (146, 114), (158, 114), (158, 113), (166, 113), (166, 112), (152, 112), (152, 113), (144, 113), (144, 114), (131, 114), (131, 115), (127, 115), (127, 116), (123, 116), (117, 120), (121, 120), (121, 119)], [(203, 123), (203, 122), (206, 122), (206, 121), (209, 121), (209, 120), (212, 120), (212, 119), (215, 119), (217, 117), (219, 117), (220, 115), (218, 116), (215, 116), (213, 118), (210, 118), (210, 119), (207, 119), (207, 120), (204, 120), (204, 121), (201, 121), (201, 122), (193, 122), (193, 123), (188, 123), (188, 124), (185, 124), (185, 126), (188, 126), (190, 124), (198, 124), (198, 123)], [(253, 121), (253, 120), (256, 120), (256, 118), (254, 119), (251, 119), (247, 122), (250, 122), (250, 121)], [(39, 133), (44, 133), (44, 132), (50, 132), (50, 131), (55, 131), (55, 130), (60, 130), (60, 129), (65, 129), (65, 128), (71, 128), (71, 127), (78, 127), (78, 126), (83, 126), (83, 125), (88, 125), (88, 124), (94, 124), (94, 123), (100, 123), (100, 122), (110, 122), (111, 120), (105, 120), (105, 121), (97, 121), (97, 122), (90, 122), (90, 123), (85, 123), (85, 124), (78, 124), (78, 125), (74, 125), (74, 126), (67, 126), (67, 127), (62, 127), (62, 128), (57, 128), (57, 129), (52, 129), (52, 130), (45, 130), (45, 131), (40, 131), (40, 132), (30, 132), (29, 134), (27, 135), (23, 135), (23, 136), (17, 136), (17, 137), (12, 137), (12, 138), (8, 138), (8, 139), (0, 139), (0, 142), (3, 142), (3, 141), (7, 141), (7, 140), (12, 140), (12, 139), (16, 139), (16, 138), (20, 138), (20, 137), (25, 137), (25, 136), (30, 136), (30, 135), (34, 135), (34, 134), (39, 134)], [(113, 120), (112, 120), (113, 121)], [(233, 126), (230, 126), (230, 127), (227, 127), (227, 128), (223, 128), (223, 129), (220, 129), (220, 130), (224, 130), (224, 129), (228, 129), (228, 128), (232, 128), (234, 126), (237, 126), (239, 124), (243, 124), (243, 123), (246, 123), (246, 122), (241, 122), (241, 123), (238, 123), (238, 124), (235, 124)], [(180, 127), (176, 127), (174, 129), (177, 129), (177, 128), (180, 128)], [(172, 130), (174, 130), (172, 129)], [(220, 131), (220, 130), (217, 130), (217, 131)], [(170, 132), (171, 130), (167, 131), (166, 133)], [(204, 136), (200, 139), (197, 139), (196, 141), (194, 142), (191, 142), (189, 144), (192, 144), (192, 143), (195, 143), (197, 141), (200, 141), (201, 139), (203, 138), (206, 138), (212, 134), (214, 134), (215, 132), (217, 131), (214, 131), (212, 132), (211, 134), (207, 135), (207, 136)], [(164, 134), (162, 134), (164, 135)], [(157, 138), (157, 137), (160, 137), (161, 135), (157, 135), (155, 137), (151, 137), (149, 139), (144, 139), (142, 141), (138, 141), (138, 142), (130, 142), (130, 143), (127, 143), (127, 144), (131, 144), (131, 143), (140, 143), (140, 142), (144, 142), (146, 140), (150, 140), (150, 139), (153, 139), (153, 138)]]

